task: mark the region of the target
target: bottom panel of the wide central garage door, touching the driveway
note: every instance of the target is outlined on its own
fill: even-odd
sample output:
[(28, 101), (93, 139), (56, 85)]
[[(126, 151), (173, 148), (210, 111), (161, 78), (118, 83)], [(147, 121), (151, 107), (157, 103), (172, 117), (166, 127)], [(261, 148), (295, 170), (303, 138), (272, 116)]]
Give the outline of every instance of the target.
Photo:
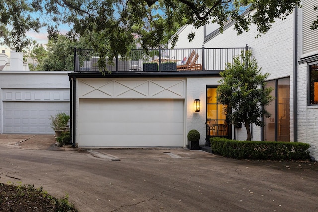
[(81, 146), (117, 146), (117, 147), (180, 147), (183, 137), (180, 135), (80, 135), (79, 141), (86, 141)]

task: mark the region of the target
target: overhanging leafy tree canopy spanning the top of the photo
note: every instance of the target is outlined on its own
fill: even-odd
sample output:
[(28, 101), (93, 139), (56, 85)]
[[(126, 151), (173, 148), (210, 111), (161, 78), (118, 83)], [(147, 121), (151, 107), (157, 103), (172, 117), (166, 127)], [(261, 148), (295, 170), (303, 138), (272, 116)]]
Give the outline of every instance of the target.
[[(29, 40), (25, 33), (47, 26), (56, 38), (59, 24), (69, 24), (69, 36), (87, 36), (102, 55), (125, 55), (137, 42), (143, 48), (156, 47), (184, 24), (196, 28), (209, 22), (223, 25), (236, 20), (238, 34), (256, 24), (266, 33), (275, 18), (285, 18), (301, 0), (1, 0), (0, 36), (22, 50)], [(241, 16), (242, 9), (257, 9)], [(314, 9), (314, 8), (313, 8)], [(317, 23), (317, 22), (316, 22)], [(313, 28), (317, 24), (313, 23)], [(6, 30), (9, 29), (9, 32)], [(194, 33), (188, 35), (193, 39)]]

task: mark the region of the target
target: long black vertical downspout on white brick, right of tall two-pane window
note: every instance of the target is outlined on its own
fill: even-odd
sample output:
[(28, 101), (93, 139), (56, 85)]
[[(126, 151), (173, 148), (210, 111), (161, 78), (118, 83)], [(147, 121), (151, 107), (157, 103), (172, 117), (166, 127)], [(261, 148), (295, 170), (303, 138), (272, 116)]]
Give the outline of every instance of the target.
[(298, 18), (297, 18), (297, 6), (295, 6), (295, 12), (294, 12), (294, 64), (293, 64), (293, 69), (294, 69), (294, 77), (293, 77), (293, 114), (294, 114), (294, 142), (297, 142), (297, 124), (298, 124), (298, 119), (297, 119), (297, 45), (298, 45), (298, 40), (297, 40), (297, 31), (298, 31)]

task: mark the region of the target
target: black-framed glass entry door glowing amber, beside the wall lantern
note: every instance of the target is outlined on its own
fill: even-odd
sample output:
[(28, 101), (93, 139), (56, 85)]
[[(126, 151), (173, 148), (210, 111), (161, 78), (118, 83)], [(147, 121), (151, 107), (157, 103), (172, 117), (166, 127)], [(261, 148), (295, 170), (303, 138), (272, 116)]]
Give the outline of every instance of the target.
[(211, 136), (229, 137), (229, 124), (224, 109), (226, 105), (217, 102), (217, 88), (207, 87), (207, 141)]

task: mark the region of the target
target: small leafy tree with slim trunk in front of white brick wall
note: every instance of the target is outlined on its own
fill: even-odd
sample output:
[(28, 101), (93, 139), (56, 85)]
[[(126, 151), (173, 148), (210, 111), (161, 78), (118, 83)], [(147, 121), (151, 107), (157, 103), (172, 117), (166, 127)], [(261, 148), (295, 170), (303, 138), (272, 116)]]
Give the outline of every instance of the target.
[(270, 95), (272, 87), (265, 88), (268, 73), (261, 74), (257, 61), (251, 51), (235, 56), (233, 64), (227, 63), (226, 69), (220, 72), (220, 85), (217, 88), (217, 101), (227, 105), (224, 113), (232, 124), (240, 122), (246, 128), (247, 141), (251, 140), (250, 124), (264, 126), (262, 117), (270, 117), (264, 109), (273, 101)]

